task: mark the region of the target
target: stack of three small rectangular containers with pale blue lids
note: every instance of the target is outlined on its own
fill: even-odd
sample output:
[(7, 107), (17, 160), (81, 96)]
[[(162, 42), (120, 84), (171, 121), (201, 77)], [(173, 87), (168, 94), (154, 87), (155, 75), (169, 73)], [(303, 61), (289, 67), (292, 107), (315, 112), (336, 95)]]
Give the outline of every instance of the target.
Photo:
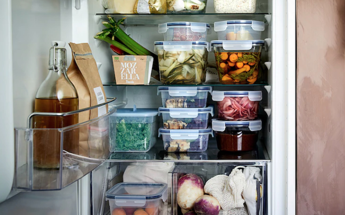
[(207, 149), (209, 115), (213, 107), (206, 107), (209, 86), (173, 87), (159, 86), (163, 107), (163, 127), (159, 136), (163, 138), (164, 149), (168, 152), (203, 152)]

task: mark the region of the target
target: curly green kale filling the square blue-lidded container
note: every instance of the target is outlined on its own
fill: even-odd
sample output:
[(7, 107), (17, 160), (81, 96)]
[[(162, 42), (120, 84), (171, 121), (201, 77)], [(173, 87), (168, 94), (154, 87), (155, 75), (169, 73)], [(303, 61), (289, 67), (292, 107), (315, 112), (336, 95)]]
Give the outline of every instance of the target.
[(116, 151), (146, 151), (150, 146), (152, 123), (116, 123)]

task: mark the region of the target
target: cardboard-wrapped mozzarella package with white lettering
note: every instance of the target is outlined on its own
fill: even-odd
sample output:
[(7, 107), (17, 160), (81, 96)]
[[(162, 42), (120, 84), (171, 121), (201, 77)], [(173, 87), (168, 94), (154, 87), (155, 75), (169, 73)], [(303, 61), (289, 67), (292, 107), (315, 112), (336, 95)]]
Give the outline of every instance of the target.
[[(128, 55), (112, 56), (116, 84), (147, 84), (147, 77), (145, 77), (147, 57)], [(151, 74), (146, 74), (146, 76), (148, 75), (151, 76)]]

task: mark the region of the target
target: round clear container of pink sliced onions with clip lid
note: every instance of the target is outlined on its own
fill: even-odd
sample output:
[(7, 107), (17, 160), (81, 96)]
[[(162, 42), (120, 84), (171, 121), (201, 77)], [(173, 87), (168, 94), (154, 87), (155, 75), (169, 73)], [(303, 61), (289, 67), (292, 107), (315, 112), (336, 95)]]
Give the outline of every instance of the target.
[(259, 101), (262, 100), (262, 91), (214, 90), (212, 100), (217, 102), (220, 120), (255, 120), (258, 116)]

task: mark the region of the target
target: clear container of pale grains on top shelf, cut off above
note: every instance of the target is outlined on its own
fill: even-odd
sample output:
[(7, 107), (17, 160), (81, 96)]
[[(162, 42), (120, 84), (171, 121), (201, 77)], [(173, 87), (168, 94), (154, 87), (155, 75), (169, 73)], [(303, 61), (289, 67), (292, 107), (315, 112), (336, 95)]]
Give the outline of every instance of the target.
[(255, 13), (256, 0), (214, 0), (216, 13)]

